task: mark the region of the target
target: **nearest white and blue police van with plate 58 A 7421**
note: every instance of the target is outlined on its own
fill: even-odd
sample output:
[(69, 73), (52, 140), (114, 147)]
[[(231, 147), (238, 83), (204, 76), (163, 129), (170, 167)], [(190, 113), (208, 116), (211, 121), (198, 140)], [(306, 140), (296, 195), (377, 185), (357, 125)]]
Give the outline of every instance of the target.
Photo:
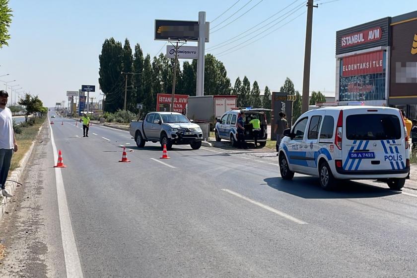
[(399, 190), (409, 173), (407, 129), (396, 108), (320, 107), (302, 114), (284, 136), (279, 145), (284, 180), (301, 173), (332, 189), (336, 179), (382, 179)]

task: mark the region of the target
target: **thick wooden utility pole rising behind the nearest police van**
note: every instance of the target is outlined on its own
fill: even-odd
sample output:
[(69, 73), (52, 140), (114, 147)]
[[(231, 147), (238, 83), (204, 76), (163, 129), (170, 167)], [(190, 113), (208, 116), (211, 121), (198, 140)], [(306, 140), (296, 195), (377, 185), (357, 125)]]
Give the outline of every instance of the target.
[(301, 101), (301, 113), (308, 111), (308, 98), (310, 93), (311, 33), (313, 29), (313, 7), (317, 7), (317, 5), (314, 5), (314, 0), (308, 0), (307, 27), (305, 31), (304, 78), (303, 96)]

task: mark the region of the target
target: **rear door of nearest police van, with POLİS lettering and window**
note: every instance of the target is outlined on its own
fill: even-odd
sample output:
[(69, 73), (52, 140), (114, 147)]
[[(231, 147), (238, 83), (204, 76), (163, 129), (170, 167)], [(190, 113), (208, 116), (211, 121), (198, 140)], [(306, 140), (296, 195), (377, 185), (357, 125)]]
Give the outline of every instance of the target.
[(342, 165), (346, 171), (402, 170), (406, 146), (397, 109), (345, 109)]

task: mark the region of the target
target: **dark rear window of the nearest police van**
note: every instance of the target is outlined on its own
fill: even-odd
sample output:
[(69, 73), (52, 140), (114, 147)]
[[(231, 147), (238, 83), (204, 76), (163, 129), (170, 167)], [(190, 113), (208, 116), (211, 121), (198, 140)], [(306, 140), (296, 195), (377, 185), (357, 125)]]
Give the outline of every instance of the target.
[(401, 139), (400, 118), (387, 114), (357, 114), (346, 118), (348, 140)]

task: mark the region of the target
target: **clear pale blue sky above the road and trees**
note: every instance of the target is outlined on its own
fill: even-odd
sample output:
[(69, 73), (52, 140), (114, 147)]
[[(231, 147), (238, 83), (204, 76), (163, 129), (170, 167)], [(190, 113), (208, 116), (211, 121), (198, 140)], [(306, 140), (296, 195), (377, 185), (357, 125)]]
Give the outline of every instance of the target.
[[(225, 23), (259, 1), (252, 0)], [(206, 49), (253, 27), (293, 1), (263, 0), (232, 24), (211, 33)], [(417, 5), (415, 0), (338, 0), (325, 3), (328, 1), (331, 0), (315, 1), (324, 4), (314, 9), (310, 90), (334, 92), (336, 31), (411, 12)], [(164, 44), (153, 40), (154, 19), (198, 20), (198, 12), (206, 11), (207, 21), (212, 21), (234, 2), (236, 0), (10, 0), (9, 6), (13, 9), (9, 30), (11, 39), (8, 47), (0, 49), (0, 75), (10, 75), (0, 79), (16, 79), (14, 84), (38, 94), (44, 104), (51, 107), (55, 102), (67, 100), (67, 90), (78, 90), (82, 84), (96, 85), (98, 89), (98, 55), (105, 38), (115, 37), (119, 41), (128, 38), (132, 47), (140, 43), (143, 52), (153, 56)], [(246, 2), (248, 0), (240, 0), (211, 27)], [(303, 0), (290, 8), (301, 3)], [(300, 9), (270, 30), (305, 9)], [(303, 14), (268, 37), (219, 56), (232, 85), (236, 77), (242, 79), (246, 75), (251, 83), (258, 81), (261, 89), (269, 86), (272, 90), (279, 90), (285, 78), (289, 77), (295, 88), (301, 91), (305, 23), (306, 14)], [(253, 35), (210, 53), (218, 54)], [(3, 83), (0, 88), (4, 88)], [(92, 95), (101, 98), (98, 93)]]

